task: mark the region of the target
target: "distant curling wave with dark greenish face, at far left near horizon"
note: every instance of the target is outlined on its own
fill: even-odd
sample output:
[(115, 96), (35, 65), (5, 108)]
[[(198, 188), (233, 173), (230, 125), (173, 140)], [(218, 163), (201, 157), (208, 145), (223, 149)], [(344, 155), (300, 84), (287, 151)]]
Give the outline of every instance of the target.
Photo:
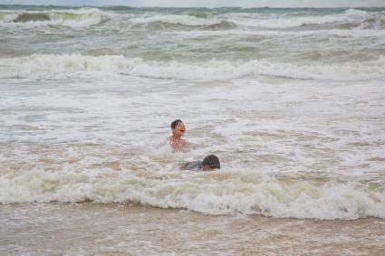
[(100, 24), (102, 12), (98, 9), (13, 11), (0, 13), (0, 25), (35, 27), (62, 25), (68, 27), (88, 27)]

